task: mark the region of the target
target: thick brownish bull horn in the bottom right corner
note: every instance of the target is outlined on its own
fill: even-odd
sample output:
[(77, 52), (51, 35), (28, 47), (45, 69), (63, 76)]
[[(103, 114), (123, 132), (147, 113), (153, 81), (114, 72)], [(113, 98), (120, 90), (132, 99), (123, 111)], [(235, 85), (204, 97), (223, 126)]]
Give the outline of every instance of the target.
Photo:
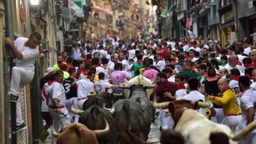
[(256, 121), (253, 121), (248, 126), (246, 126), (242, 131), (240, 131), (240, 133), (238, 133), (237, 135), (232, 134), (231, 139), (234, 141), (238, 141), (241, 138), (243, 138), (245, 135), (250, 133), (252, 130), (254, 130), (255, 128), (256, 128)]

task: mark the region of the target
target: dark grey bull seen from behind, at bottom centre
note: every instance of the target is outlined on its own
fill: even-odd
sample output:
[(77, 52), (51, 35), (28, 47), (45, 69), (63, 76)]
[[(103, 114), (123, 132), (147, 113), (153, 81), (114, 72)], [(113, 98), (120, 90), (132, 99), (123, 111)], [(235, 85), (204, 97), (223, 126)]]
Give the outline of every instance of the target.
[(146, 117), (142, 106), (129, 99), (114, 103), (114, 123), (116, 124), (119, 143), (145, 143), (148, 138)]

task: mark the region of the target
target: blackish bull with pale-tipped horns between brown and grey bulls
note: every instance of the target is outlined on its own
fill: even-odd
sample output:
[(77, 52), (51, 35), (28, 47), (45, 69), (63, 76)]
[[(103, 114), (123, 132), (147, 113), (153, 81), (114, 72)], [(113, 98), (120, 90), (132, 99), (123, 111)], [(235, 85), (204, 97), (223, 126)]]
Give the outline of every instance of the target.
[[(105, 107), (105, 104), (103, 104), (103, 107)], [(117, 143), (117, 131), (112, 117), (114, 108), (104, 109), (100, 106), (90, 106), (85, 111), (80, 111), (75, 110), (72, 107), (71, 111), (75, 114), (80, 115), (78, 122), (84, 124), (91, 130), (105, 128), (105, 121), (107, 121), (110, 127), (110, 131), (108, 133), (105, 133), (105, 135), (97, 136), (97, 140), (99, 141), (99, 143)]]

